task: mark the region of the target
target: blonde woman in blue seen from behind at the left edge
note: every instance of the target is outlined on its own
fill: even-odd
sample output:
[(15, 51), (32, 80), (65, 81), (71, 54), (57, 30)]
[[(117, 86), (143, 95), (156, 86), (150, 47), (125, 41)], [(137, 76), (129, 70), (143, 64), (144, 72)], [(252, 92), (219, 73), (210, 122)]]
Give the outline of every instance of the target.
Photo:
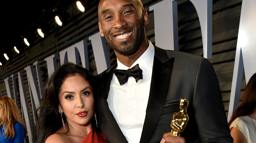
[(17, 105), (9, 97), (0, 97), (0, 143), (24, 143), (27, 133)]

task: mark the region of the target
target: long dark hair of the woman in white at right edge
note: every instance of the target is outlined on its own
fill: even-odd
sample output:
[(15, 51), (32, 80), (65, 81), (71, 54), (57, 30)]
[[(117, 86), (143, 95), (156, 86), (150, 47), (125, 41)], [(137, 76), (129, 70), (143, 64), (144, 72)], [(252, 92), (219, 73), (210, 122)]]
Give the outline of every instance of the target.
[(248, 116), (252, 114), (256, 110), (256, 73), (252, 75), (250, 78), (243, 97), (242, 102), (237, 107), (235, 112), (233, 113), (230, 121), (228, 122), (228, 126), (238, 117)]

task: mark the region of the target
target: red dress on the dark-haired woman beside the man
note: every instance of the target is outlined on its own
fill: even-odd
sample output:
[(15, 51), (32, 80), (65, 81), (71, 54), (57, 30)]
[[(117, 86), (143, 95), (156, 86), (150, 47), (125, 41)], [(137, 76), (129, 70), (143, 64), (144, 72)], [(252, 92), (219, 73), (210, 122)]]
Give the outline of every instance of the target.
[(102, 133), (98, 133), (102, 140), (99, 139), (98, 135), (96, 134), (95, 131), (93, 131), (93, 127), (91, 128), (89, 134), (84, 138), (84, 140), (82, 141), (82, 143), (106, 143), (104, 142), (104, 140), (106, 141), (106, 136), (103, 135)]

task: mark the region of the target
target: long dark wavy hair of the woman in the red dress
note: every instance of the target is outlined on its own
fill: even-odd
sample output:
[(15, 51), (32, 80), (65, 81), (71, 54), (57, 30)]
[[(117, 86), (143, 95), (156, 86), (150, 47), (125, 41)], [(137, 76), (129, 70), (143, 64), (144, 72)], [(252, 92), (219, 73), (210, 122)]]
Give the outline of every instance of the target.
[[(88, 70), (74, 63), (64, 63), (56, 69), (51, 77), (44, 83), (44, 97), (37, 109), (37, 119), (32, 133), (32, 142), (44, 143), (47, 137), (55, 133), (62, 127), (61, 116), (58, 112), (59, 98), (58, 94), (63, 81), (70, 76), (81, 75), (89, 82), (93, 91), (95, 91), (95, 79)], [(68, 128), (66, 116), (62, 114), (63, 120)], [(92, 117), (92, 126), (96, 129), (95, 117)]]

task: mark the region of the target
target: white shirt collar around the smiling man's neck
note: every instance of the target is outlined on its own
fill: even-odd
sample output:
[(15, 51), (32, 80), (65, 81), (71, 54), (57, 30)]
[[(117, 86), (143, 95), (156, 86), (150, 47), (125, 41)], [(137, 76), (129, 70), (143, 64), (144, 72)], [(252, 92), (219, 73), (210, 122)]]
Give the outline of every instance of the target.
[[(151, 41), (148, 41), (148, 48), (147, 50), (132, 64), (131, 67), (134, 67), (135, 65), (139, 64), (139, 68), (142, 70), (142, 74), (145, 76), (148, 76), (150, 69), (153, 66), (154, 61), (154, 45), (151, 43)], [(130, 67), (125, 66), (117, 59), (117, 69), (119, 70), (127, 70)]]

